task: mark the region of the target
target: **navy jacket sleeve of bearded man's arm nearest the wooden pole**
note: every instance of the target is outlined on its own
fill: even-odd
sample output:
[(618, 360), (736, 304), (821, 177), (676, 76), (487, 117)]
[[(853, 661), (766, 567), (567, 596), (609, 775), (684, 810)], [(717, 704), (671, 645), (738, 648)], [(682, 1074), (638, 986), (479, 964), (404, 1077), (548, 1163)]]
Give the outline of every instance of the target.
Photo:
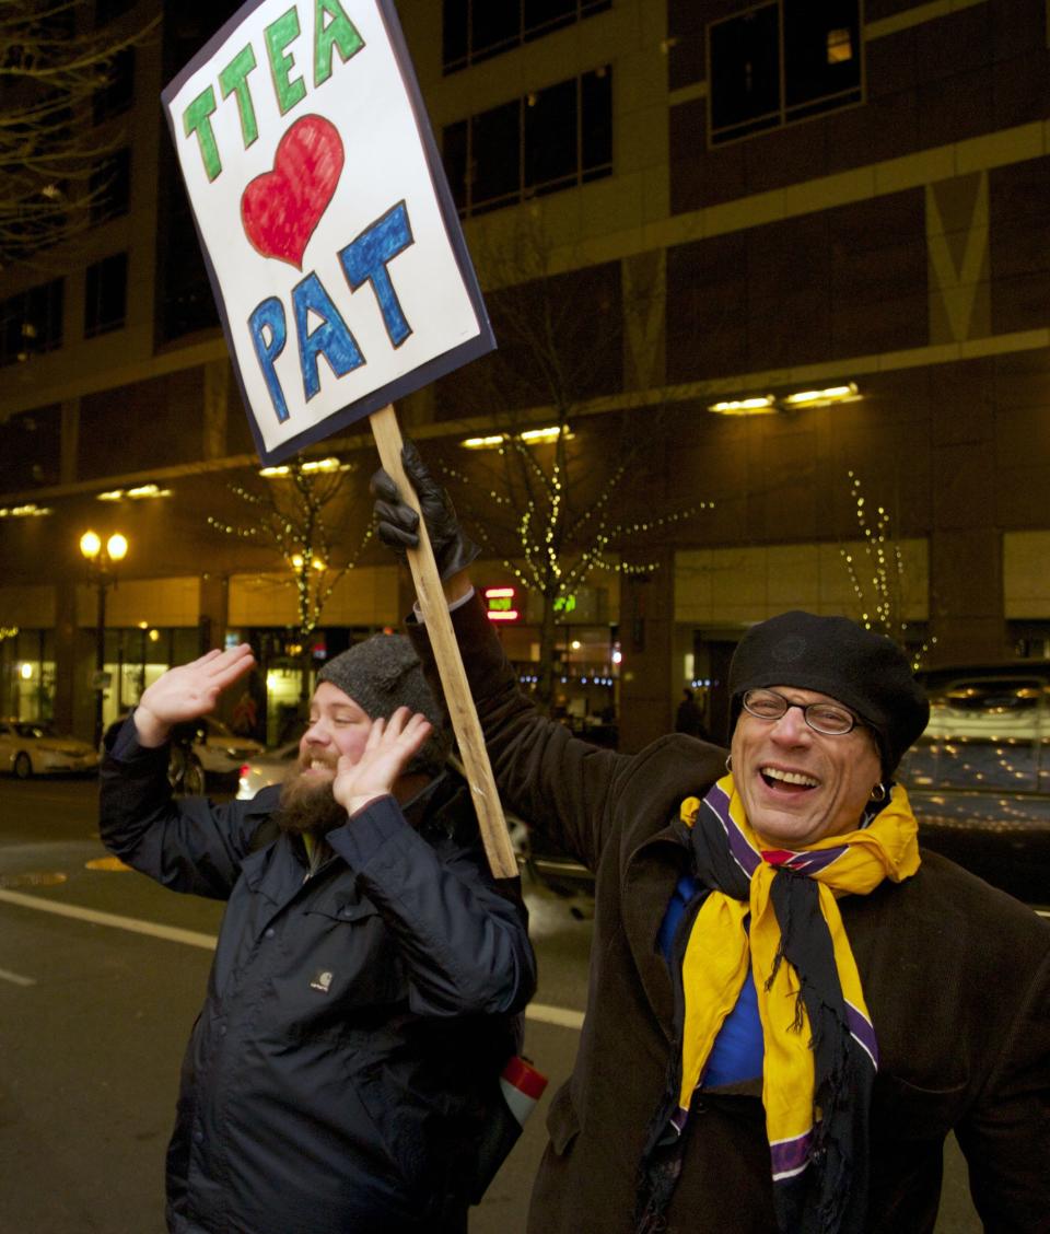
[(526, 1006), (535, 958), (524, 906), (497, 888), (480, 842), (432, 845), (392, 797), (371, 802), (327, 839), (397, 939), (413, 1012), (492, 1014)]

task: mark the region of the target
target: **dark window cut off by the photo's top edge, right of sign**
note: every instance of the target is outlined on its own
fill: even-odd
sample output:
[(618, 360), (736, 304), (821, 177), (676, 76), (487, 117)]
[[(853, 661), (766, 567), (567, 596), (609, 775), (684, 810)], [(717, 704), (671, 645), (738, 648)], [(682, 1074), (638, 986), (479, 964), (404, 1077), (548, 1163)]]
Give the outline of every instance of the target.
[(445, 0), (442, 64), (455, 73), (612, 7), (612, 0)]

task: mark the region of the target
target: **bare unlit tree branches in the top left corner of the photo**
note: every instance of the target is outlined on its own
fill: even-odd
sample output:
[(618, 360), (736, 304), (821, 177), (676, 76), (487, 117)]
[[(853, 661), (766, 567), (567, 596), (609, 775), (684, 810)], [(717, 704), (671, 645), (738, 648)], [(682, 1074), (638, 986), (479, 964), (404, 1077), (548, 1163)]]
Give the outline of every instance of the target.
[(120, 35), (93, 19), (86, 0), (0, 0), (0, 267), (89, 226), (109, 191), (125, 137), (95, 104), (160, 17)]

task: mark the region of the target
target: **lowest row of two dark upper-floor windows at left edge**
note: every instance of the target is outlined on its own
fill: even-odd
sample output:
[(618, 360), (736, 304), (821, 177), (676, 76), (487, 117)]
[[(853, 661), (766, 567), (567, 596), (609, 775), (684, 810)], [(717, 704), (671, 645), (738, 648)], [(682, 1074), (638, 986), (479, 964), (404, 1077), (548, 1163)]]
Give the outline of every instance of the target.
[[(52, 279), (0, 301), (0, 366), (62, 347), (62, 279)], [(84, 337), (120, 329), (127, 320), (127, 253), (88, 267), (84, 283)]]

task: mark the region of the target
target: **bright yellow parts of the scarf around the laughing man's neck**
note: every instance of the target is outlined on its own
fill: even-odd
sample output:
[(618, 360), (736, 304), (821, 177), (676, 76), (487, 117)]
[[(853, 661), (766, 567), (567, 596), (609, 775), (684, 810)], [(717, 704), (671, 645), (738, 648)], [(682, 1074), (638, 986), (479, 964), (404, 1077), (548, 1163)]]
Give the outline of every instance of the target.
[[(682, 802), (681, 818), (690, 828), (701, 808), (711, 810), (724, 829), (729, 853), (749, 880), (750, 891), (746, 898), (738, 900), (723, 890), (712, 890), (693, 922), (682, 960), (685, 1030), (679, 1103), (688, 1108), (714, 1038), (737, 1004), (750, 965), (764, 1037), (763, 1103), (774, 1181), (786, 1181), (809, 1161), (814, 1062), (798, 972), (792, 964), (780, 963), (781, 927), (770, 898), (774, 879), (781, 869), (788, 869), (816, 881), (849, 1032), (876, 1070), (875, 1032), (837, 898), (866, 895), (883, 879), (899, 882), (914, 874), (919, 866), (918, 828), (899, 785), (893, 786), (891, 800), (866, 828), (825, 837), (797, 853), (771, 848), (751, 829), (732, 775), (719, 780), (703, 802), (697, 797)], [(706, 826), (717, 824), (708, 818)]]

